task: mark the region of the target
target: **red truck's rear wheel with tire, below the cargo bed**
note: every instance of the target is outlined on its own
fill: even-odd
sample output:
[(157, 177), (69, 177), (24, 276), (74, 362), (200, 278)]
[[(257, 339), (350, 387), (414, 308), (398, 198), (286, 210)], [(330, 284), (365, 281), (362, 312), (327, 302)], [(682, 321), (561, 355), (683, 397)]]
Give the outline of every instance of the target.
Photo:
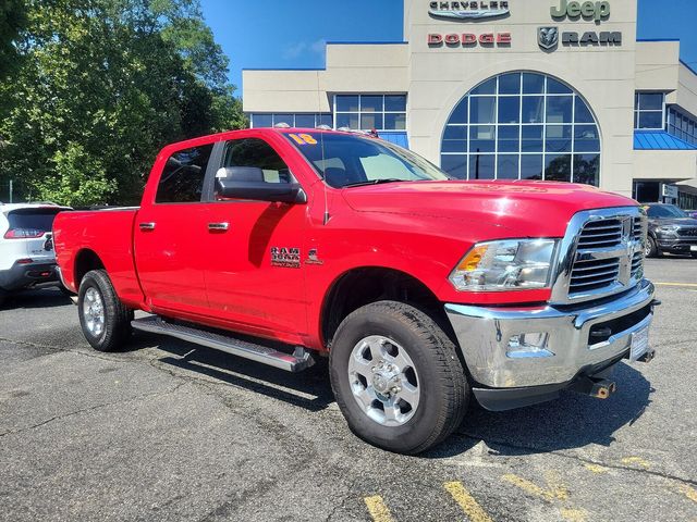
[(131, 335), (133, 312), (119, 300), (103, 270), (87, 272), (77, 295), (80, 324), (95, 350), (113, 351)]

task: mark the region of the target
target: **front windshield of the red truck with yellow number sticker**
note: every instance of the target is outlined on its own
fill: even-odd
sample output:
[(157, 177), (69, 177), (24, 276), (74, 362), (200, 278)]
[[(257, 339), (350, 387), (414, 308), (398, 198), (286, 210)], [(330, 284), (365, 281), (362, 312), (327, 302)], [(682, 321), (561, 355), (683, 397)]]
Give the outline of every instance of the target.
[(286, 134), (334, 188), (390, 182), (450, 179), (432, 163), (388, 141), (350, 134)]

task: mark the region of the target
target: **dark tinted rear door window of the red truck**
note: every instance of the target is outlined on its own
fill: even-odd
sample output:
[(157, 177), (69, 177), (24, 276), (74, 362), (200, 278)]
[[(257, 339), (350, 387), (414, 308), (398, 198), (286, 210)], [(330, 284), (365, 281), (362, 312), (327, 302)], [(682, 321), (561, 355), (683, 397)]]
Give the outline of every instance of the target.
[(189, 203), (200, 201), (206, 169), (212, 150), (211, 144), (173, 153), (162, 170), (155, 202)]

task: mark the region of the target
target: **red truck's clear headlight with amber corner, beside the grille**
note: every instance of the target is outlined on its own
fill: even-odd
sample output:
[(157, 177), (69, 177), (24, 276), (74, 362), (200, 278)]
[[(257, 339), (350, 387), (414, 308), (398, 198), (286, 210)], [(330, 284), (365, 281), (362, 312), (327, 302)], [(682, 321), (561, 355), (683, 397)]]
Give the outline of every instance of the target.
[(550, 285), (555, 239), (478, 243), (450, 274), (457, 290), (528, 290)]

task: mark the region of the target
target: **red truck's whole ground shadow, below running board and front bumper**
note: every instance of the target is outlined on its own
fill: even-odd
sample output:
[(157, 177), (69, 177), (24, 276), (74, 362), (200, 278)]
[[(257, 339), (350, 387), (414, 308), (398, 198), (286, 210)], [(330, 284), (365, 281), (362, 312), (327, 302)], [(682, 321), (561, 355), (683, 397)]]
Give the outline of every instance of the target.
[[(310, 412), (334, 402), (326, 359), (305, 372), (291, 374), (176, 339), (147, 338), (158, 339), (158, 348), (170, 353), (158, 362), (172, 370), (194, 372), (213, 383), (248, 389)], [(470, 406), (455, 434), (421, 457), (453, 457), (480, 440), (493, 453), (502, 456), (572, 449), (588, 444), (609, 446), (615, 440), (617, 430), (641, 417), (653, 393), (641, 373), (623, 362), (617, 364), (612, 378), (617, 383), (617, 391), (606, 400), (564, 393), (558, 400), (504, 412)]]

